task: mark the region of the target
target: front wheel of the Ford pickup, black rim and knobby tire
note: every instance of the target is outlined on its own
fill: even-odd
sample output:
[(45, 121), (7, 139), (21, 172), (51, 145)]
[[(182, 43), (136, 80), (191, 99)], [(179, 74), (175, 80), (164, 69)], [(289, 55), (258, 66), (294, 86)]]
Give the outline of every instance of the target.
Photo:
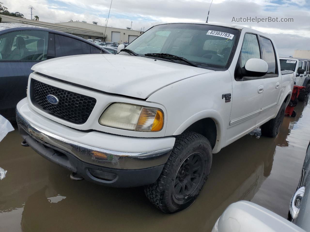
[(176, 138), (157, 181), (145, 186), (145, 195), (164, 213), (188, 208), (204, 186), (211, 164), (209, 140), (196, 132), (184, 132)]

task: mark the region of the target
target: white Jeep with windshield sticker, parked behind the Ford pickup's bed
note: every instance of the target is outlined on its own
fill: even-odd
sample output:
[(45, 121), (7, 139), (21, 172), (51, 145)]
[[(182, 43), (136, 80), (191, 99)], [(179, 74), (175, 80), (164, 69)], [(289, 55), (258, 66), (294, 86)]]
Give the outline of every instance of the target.
[(295, 84), (305, 86), (298, 96), (299, 101), (304, 101), (310, 91), (310, 60), (306, 58), (280, 57), (281, 70), (294, 72)]

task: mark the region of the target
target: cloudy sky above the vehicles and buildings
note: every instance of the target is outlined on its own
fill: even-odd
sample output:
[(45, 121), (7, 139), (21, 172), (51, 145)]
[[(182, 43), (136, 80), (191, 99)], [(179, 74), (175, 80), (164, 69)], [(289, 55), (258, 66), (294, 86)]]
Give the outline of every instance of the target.
[[(30, 19), (29, 5), (40, 21), (97, 21), (104, 25), (110, 0), (0, 0), (9, 11), (19, 11)], [(205, 22), (211, 0), (113, 0), (108, 26), (140, 30), (163, 22)], [(240, 17), (293, 18), (291, 23), (232, 22)], [(238, 24), (268, 33), (276, 41), (279, 54), (310, 50), (309, 0), (213, 0), (210, 23)]]

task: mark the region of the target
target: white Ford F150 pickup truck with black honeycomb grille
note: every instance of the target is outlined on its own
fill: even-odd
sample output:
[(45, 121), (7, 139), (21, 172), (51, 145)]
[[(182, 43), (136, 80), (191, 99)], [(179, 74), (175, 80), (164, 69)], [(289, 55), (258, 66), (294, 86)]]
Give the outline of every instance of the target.
[(294, 80), (268, 35), (161, 24), (119, 50), (34, 65), (17, 105), (22, 144), (71, 178), (145, 186), (173, 213), (197, 198), (212, 154), (260, 126), (277, 136)]

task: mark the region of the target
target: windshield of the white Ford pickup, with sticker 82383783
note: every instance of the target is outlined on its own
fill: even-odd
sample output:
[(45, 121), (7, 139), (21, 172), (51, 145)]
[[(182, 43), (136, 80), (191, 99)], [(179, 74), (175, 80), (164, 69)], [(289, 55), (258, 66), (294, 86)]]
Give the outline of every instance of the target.
[(228, 63), (238, 33), (237, 29), (206, 24), (163, 24), (143, 33), (126, 49), (148, 58), (152, 58), (148, 53), (165, 53), (198, 65), (222, 68)]

